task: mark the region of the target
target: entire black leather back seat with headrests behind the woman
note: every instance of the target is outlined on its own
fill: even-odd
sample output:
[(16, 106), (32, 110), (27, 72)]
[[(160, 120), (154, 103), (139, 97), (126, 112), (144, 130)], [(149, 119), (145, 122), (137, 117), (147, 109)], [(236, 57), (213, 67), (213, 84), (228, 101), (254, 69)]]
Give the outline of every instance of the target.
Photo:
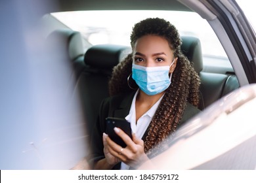
[[(131, 52), (129, 46), (117, 44), (97, 44), (91, 46), (83, 54), (81, 50), (82, 38), (77, 31), (60, 29), (49, 35), (62, 39), (66, 60), (70, 61), (74, 69), (74, 92), (78, 92), (85, 114), (87, 132), (90, 137), (98, 116), (101, 101), (109, 97), (108, 79), (112, 69)], [(50, 38), (49, 38), (50, 39)], [(192, 62), (195, 71), (201, 79), (200, 85), (200, 110), (221, 99), (224, 95), (239, 88), (238, 79), (234, 74), (207, 73), (203, 71), (203, 57), (200, 39), (197, 37), (182, 36), (181, 50)]]

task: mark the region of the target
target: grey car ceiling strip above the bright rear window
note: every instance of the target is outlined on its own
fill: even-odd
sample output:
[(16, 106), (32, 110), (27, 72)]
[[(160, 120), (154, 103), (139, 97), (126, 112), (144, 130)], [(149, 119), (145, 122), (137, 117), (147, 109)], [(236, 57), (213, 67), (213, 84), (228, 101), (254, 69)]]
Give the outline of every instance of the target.
[(190, 8), (176, 0), (58, 0), (58, 10), (184, 10)]

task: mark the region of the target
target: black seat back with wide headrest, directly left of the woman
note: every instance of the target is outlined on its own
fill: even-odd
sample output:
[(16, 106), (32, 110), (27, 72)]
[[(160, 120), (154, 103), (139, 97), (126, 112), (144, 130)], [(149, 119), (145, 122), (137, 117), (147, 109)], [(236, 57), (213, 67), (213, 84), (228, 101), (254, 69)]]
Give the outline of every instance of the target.
[(75, 90), (81, 96), (81, 105), (88, 133), (91, 135), (100, 103), (109, 96), (108, 80), (112, 69), (131, 52), (128, 46), (100, 44), (87, 50), (84, 57), (85, 69), (79, 76)]

